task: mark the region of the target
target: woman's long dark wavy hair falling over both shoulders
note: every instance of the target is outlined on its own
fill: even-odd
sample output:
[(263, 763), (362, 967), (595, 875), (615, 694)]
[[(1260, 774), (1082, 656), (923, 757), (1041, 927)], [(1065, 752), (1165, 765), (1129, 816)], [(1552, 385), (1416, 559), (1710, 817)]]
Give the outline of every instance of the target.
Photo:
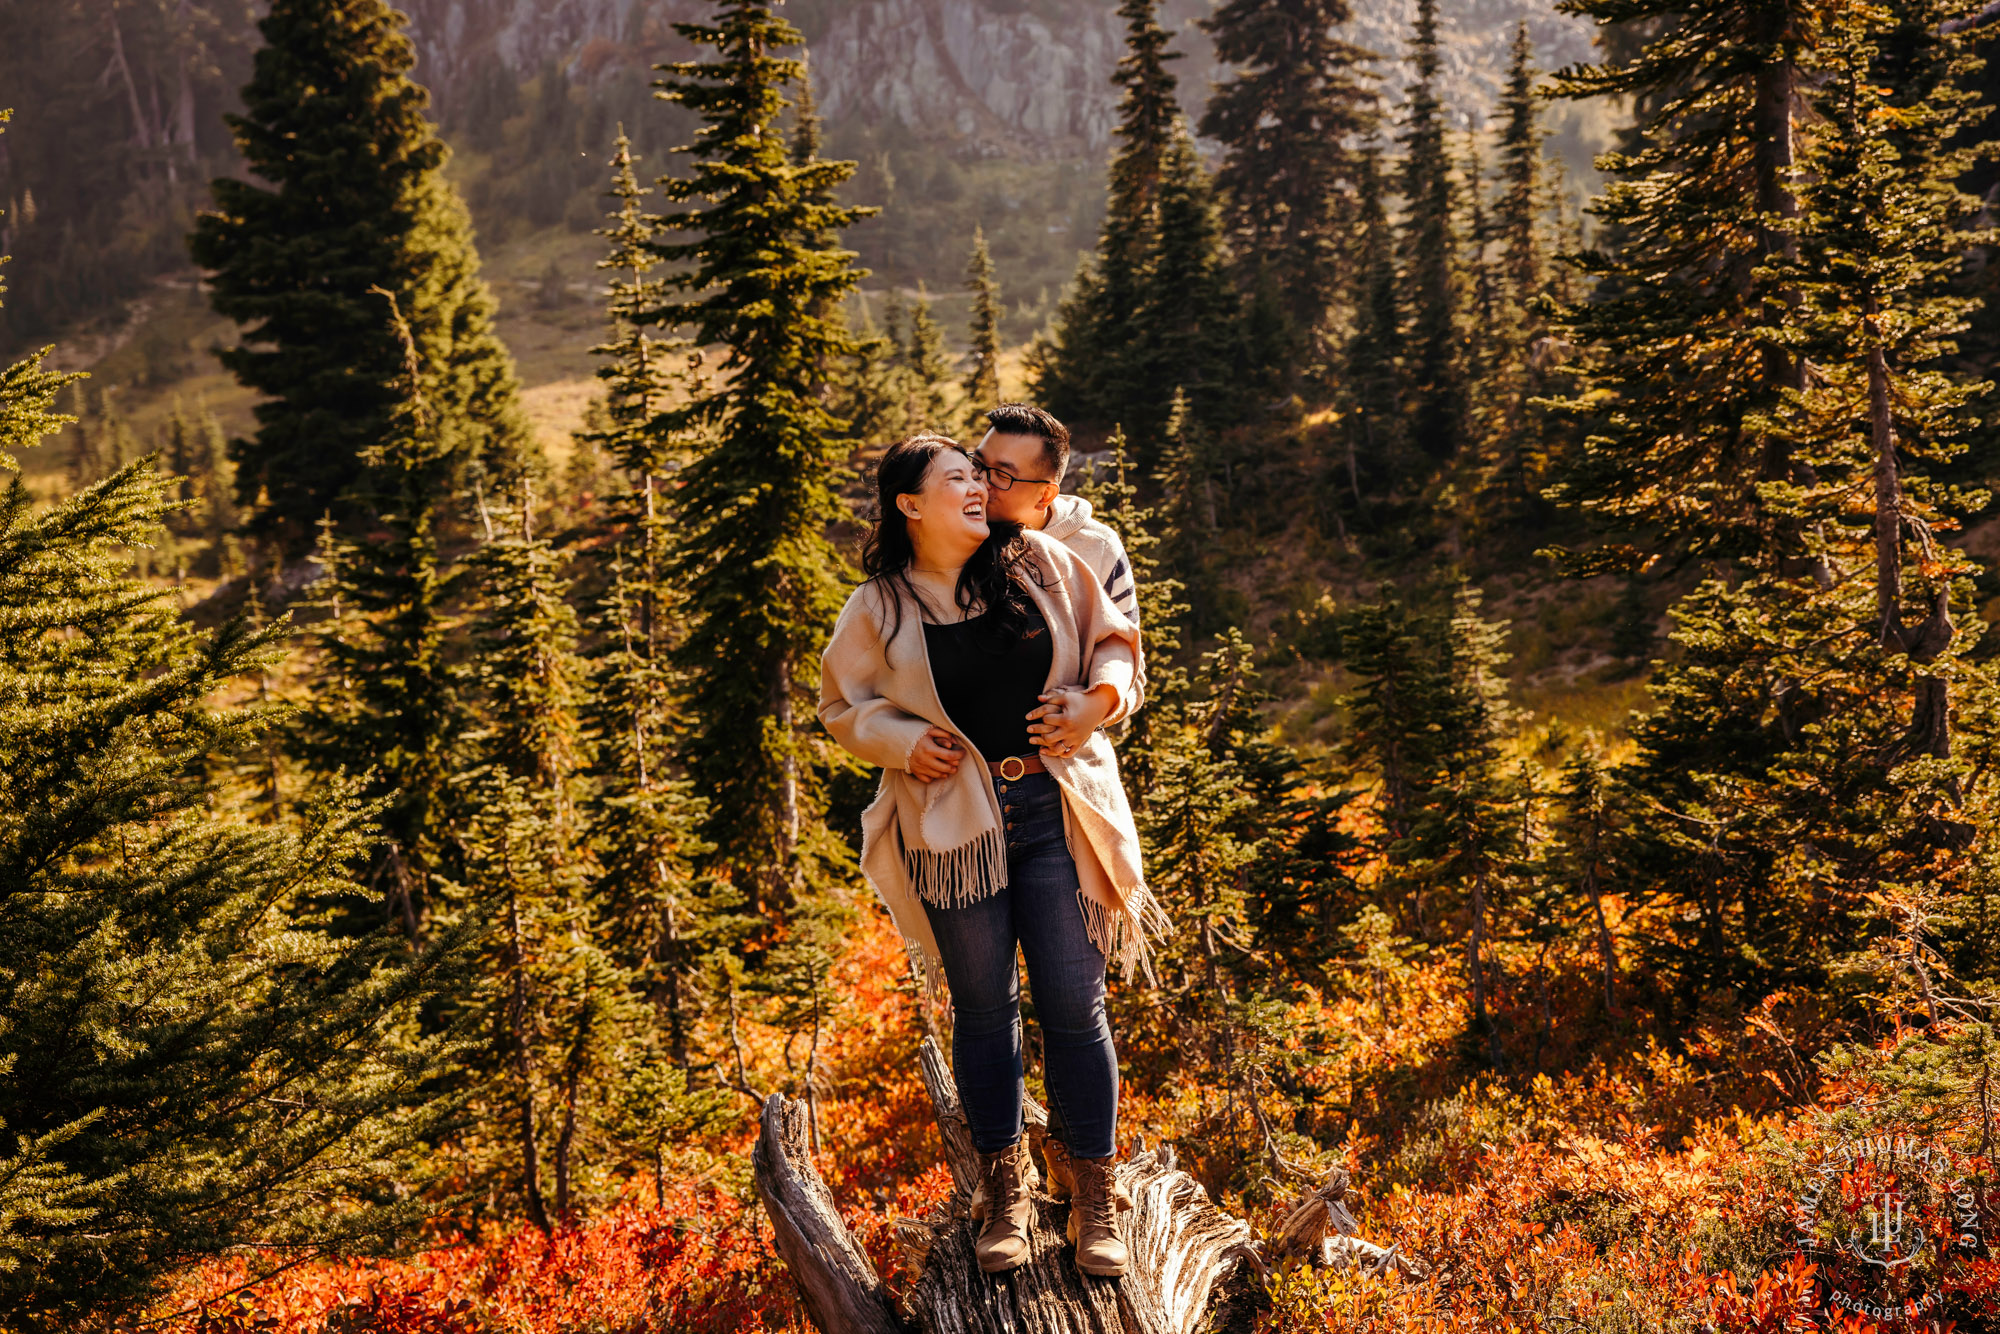
[[(910, 584), (910, 562), (916, 560), (916, 544), (910, 542), (910, 520), (896, 508), (896, 496), (914, 496), (924, 490), (924, 478), (938, 454), (964, 446), (936, 432), (920, 432), (908, 440), (898, 440), (876, 464), (876, 524), (862, 544), (862, 574), (880, 584), (890, 594), (894, 620), (888, 638), (902, 632), (902, 598), (908, 594), (918, 606), (924, 598)], [(970, 460), (972, 456), (966, 454)], [(986, 608), (988, 628), (1008, 642), (1020, 638), (1034, 614), (1034, 602), (1022, 578), (1044, 584), (1040, 568), (1028, 560), (1028, 540), (1020, 536), (1020, 524), (988, 518), (990, 532), (972, 560), (958, 572), (958, 606), (970, 612)]]

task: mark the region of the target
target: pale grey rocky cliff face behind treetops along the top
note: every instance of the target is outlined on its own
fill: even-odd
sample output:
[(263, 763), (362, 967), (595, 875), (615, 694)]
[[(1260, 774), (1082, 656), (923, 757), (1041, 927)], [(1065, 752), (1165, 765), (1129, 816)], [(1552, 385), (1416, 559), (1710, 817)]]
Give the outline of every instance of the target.
[[(712, 14), (706, 0), (406, 0), (420, 76), (450, 98), (486, 60), (516, 74), (562, 62), (588, 76), (608, 52), (660, 58), (670, 24)], [(1168, 0), (1176, 70), (1190, 112), (1216, 76), (1194, 20), (1210, 0)], [(1384, 56), (1384, 88), (1402, 88), (1416, 0), (1362, 0), (1354, 40)], [(926, 138), (990, 154), (1098, 152), (1110, 142), (1122, 50), (1112, 0), (794, 0), (828, 120), (894, 120)], [(1538, 0), (1444, 0), (1446, 96), (1468, 122), (1484, 116), (1506, 68), (1514, 24), (1530, 22), (1542, 64), (1584, 60), (1590, 30)], [(586, 56), (588, 52), (588, 56)], [(682, 52), (672, 52), (682, 54)]]

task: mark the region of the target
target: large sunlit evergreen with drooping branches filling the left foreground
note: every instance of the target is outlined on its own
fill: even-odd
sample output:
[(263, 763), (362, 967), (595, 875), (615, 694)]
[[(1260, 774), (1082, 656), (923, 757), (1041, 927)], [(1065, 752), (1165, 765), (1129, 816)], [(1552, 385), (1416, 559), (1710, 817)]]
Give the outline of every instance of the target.
[(460, 940), (342, 940), (368, 810), (210, 806), (272, 718), (218, 706), (278, 630), (202, 634), (134, 578), (172, 510), (132, 462), (36, 504), (18, 450), (66, 376), (0, 370), (0, 1304), (24, 1334), (140, 1320), (176, 1266), (394, 1244), (448, 1122), (408, 1040)]

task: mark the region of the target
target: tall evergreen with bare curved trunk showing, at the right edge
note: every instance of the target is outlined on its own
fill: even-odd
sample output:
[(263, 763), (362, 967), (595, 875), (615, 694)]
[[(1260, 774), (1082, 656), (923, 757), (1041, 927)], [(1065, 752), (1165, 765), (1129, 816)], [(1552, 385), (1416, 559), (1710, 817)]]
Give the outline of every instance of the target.
[[(1928, 92), (1892, 88), (1876, 68), (1904, 16), (1854, 6), (1812, 20), (1810, 44), (1790, 54), (1812, 58), (1812, 96), (1796, 114), (1814, 132), (1780, 170), (1782, 226), (1772, 214), (1726, 218), (1760, 256), (1746, 280), (1762, 300), (1740, 316), (1770, 322), (1716, 344), (1738, 350), (1722, 384), (1738, 424), (1768, 448), (1732, 454), (1740, 468), (1722, 486), (1718, 456), (1692, 446), (1720, 442), (1724, 422), (1712, 404), (1684, 402), (1678, 420), (1702, 434), (1680, 440), (1674, 458), (1688, 470), (1656, 474), (1648, 500), (1714, 496), (1722, 536), (1662, 518), (1660, 544), (1742, 558), (1674, 608), (1676, 654), (1654, 682), (1658, 706), (1634, 720), (1640, 754), (1624, 776), (1662, 812), (1634, 824), (1624, 856), (1680, 906), (1670, 920), (1686, 926), (1648, 952), (1686, 1008), (1718, 990), (1754, 1000), (1782, 986), (1866, 986), (1852, 960), (1870, 934), (1932, 916), (1920, 898), (1942, 900), (1948, 918), (1956, 896), (1984, 896), (1972, 838), (1990, 796), (1964, 750), (1990, 746), (1994, 682), (1966, 660), (1952, 616), (1968, 604), (1970, 566), (1936, 538), (1982, 498), (1934, 476), (1962, 448), (1968, 396), (1940, 374), (1966, 310), (1950, 284), (1974, 200), (1958, 192), (1962, 162), (1948, 146), (1968, 108), (1948, 78)], [(1788, 48), (1758, 50), (1782, 60)], [(1758, 124), (1752, 98), (1768, 80), (1750, 76), (1762, 66), (1738, 72), (1712, 46), (1694, 52), (1730, 70), (1702, 106)], [(1740, 134), (1754, 150), (1750, 128)], [(1694, 228), (1676, 236), (1688, 254)], [(1628, 268), (1612, 304), (1648, 294), (1642, 310), (1666, 320), (1666, 286)], [(1678, 366), (1652, 338), (1688, 336), (1700, 316), (1720, 340), (1714, 320), (1738, 310), (1736, 296), (1714, 292), (1708, 308), (1676, 308), (1650, 332), (1646, 394), (1650, 376)], [(1640, 346), (1594, 372), (1630, 386), (1636, 368), (1622, 358)], [(1592, 440), (1598, 462), (1652, 438), (1620, 432), (1614, 422)]]

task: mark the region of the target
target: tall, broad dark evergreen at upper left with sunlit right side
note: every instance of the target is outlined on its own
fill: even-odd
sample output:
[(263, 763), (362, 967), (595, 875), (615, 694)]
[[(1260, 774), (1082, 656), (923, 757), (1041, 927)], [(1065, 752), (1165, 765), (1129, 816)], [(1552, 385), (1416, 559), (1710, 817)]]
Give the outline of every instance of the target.
[(364, 512), (344, 494), (406, 396), (376, 288), (408, 320), (452, 476), (510, 484), (530, 468), (514, 366), (402, 24), (384, 0), (272, 4), (230, 118), (254, 180), (218, 178), (192, 236), (214, 308), (246, 326), (222, 360), (264, 400), (256, 436), (232, 444), (238, 498), (292, 552), (330, 508)]

